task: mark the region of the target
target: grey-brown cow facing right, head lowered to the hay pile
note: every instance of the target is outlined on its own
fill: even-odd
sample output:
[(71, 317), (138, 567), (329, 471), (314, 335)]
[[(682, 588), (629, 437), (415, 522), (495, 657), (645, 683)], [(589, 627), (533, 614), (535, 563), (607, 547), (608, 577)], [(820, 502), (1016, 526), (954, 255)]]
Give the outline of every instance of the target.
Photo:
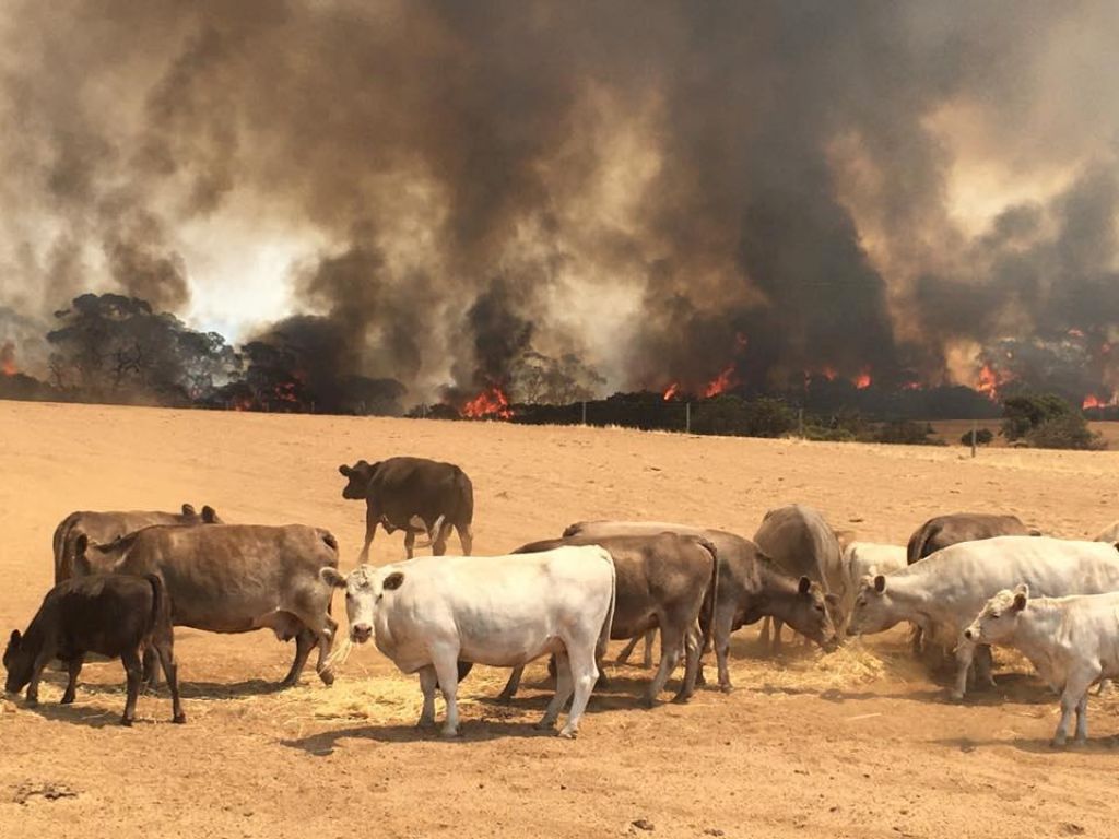
[[(788, 576), (750, 539), (725, 530), (668, 521), (580, 521), (564, 530), (564, 536), (601, 539), (609, 536), (652, 536), (666, 531), (702, 537), (715, 546), (718, 592), (714, 624), (709, 632), (715, 643), (718, 685), (724, 692), (734, 689), (727, 667), (731, 634), (762, 618), (777, 616), (820, 647), (833, 649), (836, 629), (831, 625), (827, 601), (819, 584), (812, 583), (808, 577), (798, 579)], [(705, 632), (706, 616), (706, 612), (699, 616)], [(648, 634), (646, 639), (648, 644)], [(639, 640), (640, 637), (631, 641), (629, 649), (632, 650)], [(704, 684), (702, 654), (696, 681)]]

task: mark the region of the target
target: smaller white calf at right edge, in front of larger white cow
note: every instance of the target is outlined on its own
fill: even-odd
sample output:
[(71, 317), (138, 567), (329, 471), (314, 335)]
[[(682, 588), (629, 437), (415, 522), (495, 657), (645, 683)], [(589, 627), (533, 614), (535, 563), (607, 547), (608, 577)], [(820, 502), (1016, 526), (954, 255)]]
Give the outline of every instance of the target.
[(1061, 694), (1053, 745), (1063, 746), (1076, 710), (1076, 742), (1088, 739), (1088, 689), (1119, 676), (1119, 592), (1073, 597), (1031, 597), (1021, 584), (987, 601), (963, 631), (972, 643), (1019, 650)]

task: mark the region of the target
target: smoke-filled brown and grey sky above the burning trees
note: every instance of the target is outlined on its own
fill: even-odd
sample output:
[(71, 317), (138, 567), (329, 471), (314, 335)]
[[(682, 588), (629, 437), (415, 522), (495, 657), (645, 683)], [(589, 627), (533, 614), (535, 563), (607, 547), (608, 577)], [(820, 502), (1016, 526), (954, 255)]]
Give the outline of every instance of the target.
[[(1119, 3), (8, 0), (0, 339), (318, 314), (414, 398), (1119, 338)], [(1070, 332), (1070, 330), (1073, 330)], [(41, 331), (39, 329), (38, 331)]]

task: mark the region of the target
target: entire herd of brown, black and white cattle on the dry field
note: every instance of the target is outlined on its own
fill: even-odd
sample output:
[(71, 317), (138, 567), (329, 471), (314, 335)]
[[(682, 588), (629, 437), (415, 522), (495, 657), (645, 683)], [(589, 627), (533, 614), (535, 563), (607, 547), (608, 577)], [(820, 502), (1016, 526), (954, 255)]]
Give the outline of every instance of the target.
[[(660, 633), (660, 661), (643, 696), (653, 705), (684, 660), (676, 692), (705, 684), (714, 647), (718, 687), (733, 689), (732, 633), (764, 619), (762, 639), (781, 643), (788, 624), (834, 649), (845, 635), (913, 626), (914, 652), (955, 650), (952, 695), (991, 681), (991, 644), (1021, 650), (1061, 694), (1054, 744), (1072, 714), (1087, 737), (1089, 688), (1119, 676), (1119, 522), (1094, 540), (1051, 538), (1014, 516), (955, 513), (922, 525), (906, 547), (850, 539), (800, 505), (768, 512), (752, 539), (664, 521), (582, 521), (560, 538), (506, 556), (471, 556), (473, 488), (455, 465), (419, 458), (339, 468), (342, 497), (366, 503), (359, 564), (338, 571), (338, 543), (302, 525), (226, 524), (197, 512), (75, 512), (54, 535), (55, 586), (3, 656), (7, 690), (38, 699), (47, 664), (67, 666), (72, 703), (87, 654), (120, 658), (128, 677), (122, 722), (131, 724), (141, 684), (168, 681), (179, 698), (172, 626), (210, 632), (271, 629), (295, 640), (283, 686), (298, 682), (311, 652), (323, 682), (352, 642), (375, 640), (404, 672), (419, 673), (421, 725), (458, 732), (458, 684), (473, 663), (510, 668), (511, 698), (524, 666), (549, 654), (555, 695), (540, 726), (571, 700), (562, 736), (574, 736), (600, 673), (608, 640), (645, 640), (645, 663)], [(408, 558), (365, 564), (378, 527), (403, 530)], [(444, 556), (451, 530), (462, 556)], [(417, 537), (422, 537), (420, 543)], [(415, 547), (433, 555), (413, 558)], [(349, 632), (336, 639), (335, 587), (346, 593)], [(772, 629), (772, 632), (771, 632)], [(158, 664), (158, 668), (157, 668)]]

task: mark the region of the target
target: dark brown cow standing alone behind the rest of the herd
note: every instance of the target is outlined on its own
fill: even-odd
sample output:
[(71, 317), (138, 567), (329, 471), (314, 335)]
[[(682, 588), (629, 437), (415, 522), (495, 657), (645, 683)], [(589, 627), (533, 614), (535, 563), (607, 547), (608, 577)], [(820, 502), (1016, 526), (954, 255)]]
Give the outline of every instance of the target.
[(404, 549), (412, 558), (417, 532), (426, 532), (435, 556), (446, 553), (446, 539), (453, 527), (462, 553), (470, 556), (473, 546), (471, 522), (474, 518), (474, 489), (467, 473), (453, 463), (424, 458), (389, 458), (378, 463), (359, 460), (352, 466), (338, 466), (348, 479), (342, 498), (365, 501), (365, 544), (358, 563), (369, 558), (377, 526), (385, 532), (404, 530)]

